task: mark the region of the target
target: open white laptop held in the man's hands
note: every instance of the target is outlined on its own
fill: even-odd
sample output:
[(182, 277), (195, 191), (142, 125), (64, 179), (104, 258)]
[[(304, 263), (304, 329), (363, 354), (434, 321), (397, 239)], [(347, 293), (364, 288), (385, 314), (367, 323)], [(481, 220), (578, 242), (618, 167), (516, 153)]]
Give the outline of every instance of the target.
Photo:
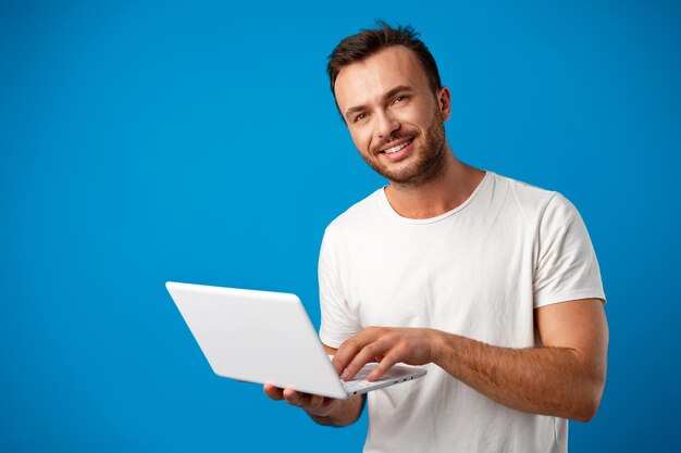
[(343, 381), (295, 294), (174, 281), (165, 288), (218, 376), (346, 399), (426, 374), (397, 364), (369, 382), (372, 363)]

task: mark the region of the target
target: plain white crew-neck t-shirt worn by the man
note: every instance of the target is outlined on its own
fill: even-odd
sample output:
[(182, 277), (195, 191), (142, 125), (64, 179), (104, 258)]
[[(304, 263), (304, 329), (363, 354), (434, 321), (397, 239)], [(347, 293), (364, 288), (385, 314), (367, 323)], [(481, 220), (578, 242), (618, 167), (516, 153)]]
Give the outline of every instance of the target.
[[(429, 327), (493, 345), (538, 344), (536, 307), (605, 300), (574, 206), (487, 172), (469, 199), (428, 219), (399, 216), (380, 189), (336, 218), (319, 263), (322, 341), (369, 326)], [(370, 392), (364, 452), (566, 452), (568, 420), (498, 404), (434, 364)]]

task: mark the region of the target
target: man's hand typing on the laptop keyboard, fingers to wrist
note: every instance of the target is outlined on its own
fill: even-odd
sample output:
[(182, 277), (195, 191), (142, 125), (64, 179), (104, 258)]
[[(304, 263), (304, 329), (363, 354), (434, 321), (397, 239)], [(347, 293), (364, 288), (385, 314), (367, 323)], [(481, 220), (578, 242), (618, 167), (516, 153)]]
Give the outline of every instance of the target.
[(370, 362), (379, 365), (368, 380), (376, 380), (398, 362), (425, 365), (435, 362), (434, 329), (369, 327), (345, 341), (336, 352), (333, 365), (343, 380), (350, 380)]

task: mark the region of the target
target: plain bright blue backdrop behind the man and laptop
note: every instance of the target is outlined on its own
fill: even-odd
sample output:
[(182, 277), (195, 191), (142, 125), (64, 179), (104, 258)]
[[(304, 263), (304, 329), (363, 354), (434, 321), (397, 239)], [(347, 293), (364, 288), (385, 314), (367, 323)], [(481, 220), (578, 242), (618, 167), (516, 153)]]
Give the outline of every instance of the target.
[(326, 56), (410, 23), (463, 161), (579, 209), (608, 382), (570, 449), (679, 451), (681, 8), (666, 1), (9, 2), (0, 7), (0, 450), (359, 451), (215, 377), (166, 280), (295, 292), (325, 225), (384, 181)]

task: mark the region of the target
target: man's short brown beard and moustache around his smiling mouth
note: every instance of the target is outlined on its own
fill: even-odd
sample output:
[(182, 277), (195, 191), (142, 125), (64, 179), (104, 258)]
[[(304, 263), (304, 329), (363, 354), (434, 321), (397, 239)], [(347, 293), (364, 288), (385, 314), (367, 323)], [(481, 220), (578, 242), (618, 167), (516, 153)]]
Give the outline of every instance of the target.
[[(395, 140), (400, 139), (417, 139), (423, 138), (424, 142), (417, 143), (420, 144), (413, 150), (413, 155), (407, 158), (407, 160), (412, 160), (408, 164), (403, 164), (401, 162), (397, 162), (395, 164), (383, 164), (379, 161), (379, 159), (373, 159), (377, 156), (377, 150)], [(364, 161), (371, 166), (377, 174), (387, 178), (391, 183), (396, 183), (400, 185), (407, 186), (416, 186), (423, 183), (428, 183), (430, 180), (435, 179), (439, 174), (444, 171), (447, 159), (446, 159), (446, 147), (445, 147), (445, 124), (439, 118), (439, 112), (436, 111), (434, 118), (431, 125), (425, 130), (425, 134), (422, 137), (413, 136), (411, 134), (401, 133), (398, 135), (392, 135), (387, 137), (382, 143), (380, 143), (375, 151), (372, 150), (369, 155), (364, 155), (362, 153), (362, 158)]]

